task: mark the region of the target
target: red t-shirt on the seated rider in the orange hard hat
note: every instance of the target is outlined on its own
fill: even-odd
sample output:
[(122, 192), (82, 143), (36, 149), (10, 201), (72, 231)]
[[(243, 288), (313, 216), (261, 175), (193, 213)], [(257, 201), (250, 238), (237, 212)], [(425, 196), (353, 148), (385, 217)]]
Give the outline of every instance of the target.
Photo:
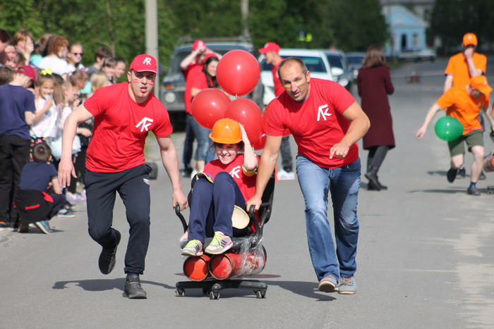
[(234, 161), (231, 161), (227, 165), (224, 165), (222, 161), (219, 161), (219, 159), (210, 161), (204, 167), (203, 172), (207, 173), (207, 175), (210, 175), (213, 181), (215, 180), (215, 177), (218, 173), (229, 173), (236, 182), (236, 185), (239, 186), (239, 189), (243, 195), (243, 199), (248, 201), (253, 197), (255, 193), (256, 175), (246, 175), (246, 173), (243, 172), (242, 166), (243, 154), (239, 154), (238, 156), (236, 156)]

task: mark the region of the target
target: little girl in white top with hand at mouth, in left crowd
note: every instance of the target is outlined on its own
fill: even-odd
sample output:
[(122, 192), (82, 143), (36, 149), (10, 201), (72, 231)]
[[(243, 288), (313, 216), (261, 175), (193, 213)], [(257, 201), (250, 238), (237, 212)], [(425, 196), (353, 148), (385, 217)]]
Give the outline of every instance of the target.
[(56, 104), (53, 99), (55, 79), (47, 70), (37, 75), (35, 82), (35, 123), (31, 125), (31, 135), (34, 137), (56, 137)]

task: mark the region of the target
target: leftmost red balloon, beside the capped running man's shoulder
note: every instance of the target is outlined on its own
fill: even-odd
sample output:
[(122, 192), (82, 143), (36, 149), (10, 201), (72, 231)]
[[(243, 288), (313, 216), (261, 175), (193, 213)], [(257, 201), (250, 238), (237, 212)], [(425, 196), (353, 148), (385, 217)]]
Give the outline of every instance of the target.
[(217, 120), (223, 118), (224, 111), (230, 103), (227, 94), (221, 90), (203, 89), (192, 99), (192, 116), (204, 128), (211, 129)]

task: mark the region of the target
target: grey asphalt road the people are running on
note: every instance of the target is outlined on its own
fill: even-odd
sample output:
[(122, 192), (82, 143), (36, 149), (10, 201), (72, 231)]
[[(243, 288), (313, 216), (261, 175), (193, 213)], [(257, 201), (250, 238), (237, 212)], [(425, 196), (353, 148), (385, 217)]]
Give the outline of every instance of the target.
[[(169, 180), (159, 168), (151, 185), (152, 236), (141, 276), (148, 299), (123, 297), (128, 225), (121, 201), (114, 227), (122, 241), (109, 275), (97, 268), (100, 247), (88, 235), (85, 204), (79, 204), (76, 218), (52, 220), (52, 235), (36, 228), (28, 234), (0, 232), (0, 328), (493, 328), (494, 195), (486, 194), (486, 187), (494, 185), (494, 175), (487, 173), (478, 183), (483, 194), (471, 197), (468, 179), (447, 182), (447, 145), (433, 126), (420, 141), (414, 138), (444, 77), (430, 75), (408, 85), (403, 75), (445, 65), (410, 63), (392, 73), (397, 147), (380, 170), (389, 190), (368, 191), (363, 178), (355, 295), (318, 292), (301, 192), (296, 181), (283, 181), (275, 187), (265, 228), (267, 265), (256, 276), (268, 285), (266, 298), (247, 290), (224, 290), (218, 300), (200, 290), (176, 297), (174, 285), (185, 279), (181, 225), (171, 209)], [(490, 72), (488, 77), (494, 82)], [(173, 139), (181, 153), (183, 134)], [(488, 137), (485, 143), (488, 154), (493, 144)], [(156, 161), (152, 150), (150, 160)], [(366, 156), (362, 151), (363, 168)], [(467, 174), (470, 164), (467, 156)], [(184, 190), (188, 184), (184, 178)]]

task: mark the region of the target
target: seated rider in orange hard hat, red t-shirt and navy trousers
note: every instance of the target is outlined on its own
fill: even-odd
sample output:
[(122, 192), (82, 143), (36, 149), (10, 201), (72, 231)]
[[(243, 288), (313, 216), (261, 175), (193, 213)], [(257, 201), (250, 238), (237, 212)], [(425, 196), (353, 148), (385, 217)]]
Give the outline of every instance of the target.
[(218, 159), (206, 164), (193, 187), (188, 232), (181, 237), (189, 240), (183, 255), (203, 255), (204, 238), (213, 235), (204, 252), (222, 254), (233, 246), (231, 237), (246, 235), (246, 229), (232, 227), (231, 216), (234, 206), (245, 209), (253, 197), (258, 157), (235, 120), (218, 120), (210, 138)]

